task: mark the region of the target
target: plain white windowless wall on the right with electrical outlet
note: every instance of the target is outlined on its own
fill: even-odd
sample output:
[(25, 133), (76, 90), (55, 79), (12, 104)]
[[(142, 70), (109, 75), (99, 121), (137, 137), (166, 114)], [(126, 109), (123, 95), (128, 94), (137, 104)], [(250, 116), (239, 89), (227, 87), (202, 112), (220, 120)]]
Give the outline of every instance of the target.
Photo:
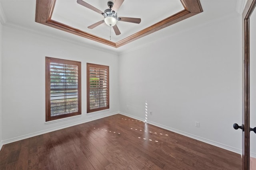
[(147, 101), (148, 122), (240, 152), (241, 27), (233, 16), (121, 54), (120, 111), (145, 119)]

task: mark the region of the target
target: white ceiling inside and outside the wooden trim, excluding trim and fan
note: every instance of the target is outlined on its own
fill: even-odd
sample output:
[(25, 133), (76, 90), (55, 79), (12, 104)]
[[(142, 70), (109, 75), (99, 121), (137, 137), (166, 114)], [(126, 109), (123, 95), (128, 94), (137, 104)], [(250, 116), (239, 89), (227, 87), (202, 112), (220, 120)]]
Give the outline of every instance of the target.
[[(88, 4), (104, 11), (108, 8), (108, 0), (84, 0)], [(204, 12), (192, 16), (186, 20), (170, 25), (160, 31), (156, 31), (146, 37), (140, 38), (132, 43), (128, 43), (118, 49), (73, 35), (46, 25), (35, 22), (36, 0), (0, 0), (3, 10), (0, 12), (1, 18), (5, 20), (4, 25), (20, 27), (29, 31), (47, 34), (56, 38), (67, 39), (81, 45), (101, 48), (112, 52), (124, 52), (132, 48), (172, 36), (180, 31), (192, 29), (200, 25), (211, 23), (222, 18), (240, 15), (245, 0), (200, 0)], [(183, 9), (179, 0), (125, 0), (118, 16), (141, 18), (140, 24), (118, 21), (117, 25), (121, 35), (115, 35), (111, 29), (111, 41), (119, 41), (148, 27), (172, 14)], [(3, 16), (4, 15), (4, 16)], [(52, 20), (60, 21), (64, 24), (76, 27), (88, 33), (92, 33), (104, 39), (110, 38), (110, 28), (101, 24), (94, 29), (88, 29), (89, 25), (103, 20), (104, 17), (84, 6), (76, 3), (76, 0), (57, 0), (54, 8)]]

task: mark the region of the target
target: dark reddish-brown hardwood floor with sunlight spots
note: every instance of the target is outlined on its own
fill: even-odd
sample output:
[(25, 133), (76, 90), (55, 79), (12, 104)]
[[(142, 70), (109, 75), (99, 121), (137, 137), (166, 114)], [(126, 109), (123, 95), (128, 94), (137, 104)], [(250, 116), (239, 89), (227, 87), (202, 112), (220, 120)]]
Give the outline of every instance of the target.
[(0, 169), (240, 170), (241, 156), (113, 115), (4, 145)]

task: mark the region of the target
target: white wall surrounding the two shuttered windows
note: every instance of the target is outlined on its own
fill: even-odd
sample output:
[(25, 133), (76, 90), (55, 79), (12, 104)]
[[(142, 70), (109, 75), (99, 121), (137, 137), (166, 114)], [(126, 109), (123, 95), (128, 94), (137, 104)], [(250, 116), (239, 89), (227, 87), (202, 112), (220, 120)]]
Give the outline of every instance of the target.
[[(4, 143), (115, 114), (118, 56), (61, 39), (3, 26), (2, 140)], [(82, 62), (82, 116), (45, 124), (45, 57)], [(110, 109), (86, 114), (86, 63), (110, 66)]]

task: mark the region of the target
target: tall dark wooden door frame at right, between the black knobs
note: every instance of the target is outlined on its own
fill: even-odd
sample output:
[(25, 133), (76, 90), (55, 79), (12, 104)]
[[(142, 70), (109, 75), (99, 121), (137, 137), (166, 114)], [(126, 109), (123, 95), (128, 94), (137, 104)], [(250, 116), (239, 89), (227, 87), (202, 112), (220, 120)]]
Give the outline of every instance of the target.
[(248, 0), (242, 14), (242, 170), (250, 169), (250, 16), (256, 0)]

